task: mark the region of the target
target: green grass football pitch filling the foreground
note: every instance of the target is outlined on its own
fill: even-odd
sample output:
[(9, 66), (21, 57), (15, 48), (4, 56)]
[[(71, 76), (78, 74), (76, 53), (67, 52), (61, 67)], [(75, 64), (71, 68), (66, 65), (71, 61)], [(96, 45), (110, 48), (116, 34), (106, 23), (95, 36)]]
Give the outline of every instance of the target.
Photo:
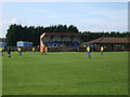
[(3, 95), (127, 95), (128, 53), (17, 52), (2, 58)]

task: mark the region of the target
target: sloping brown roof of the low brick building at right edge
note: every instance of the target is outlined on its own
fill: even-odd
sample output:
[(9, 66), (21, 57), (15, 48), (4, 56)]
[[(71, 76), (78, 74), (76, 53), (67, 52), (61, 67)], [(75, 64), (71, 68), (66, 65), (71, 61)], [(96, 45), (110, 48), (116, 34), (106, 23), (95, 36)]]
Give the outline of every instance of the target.
[(84, 43), (130, 43), (130, 38), (100, 38)]

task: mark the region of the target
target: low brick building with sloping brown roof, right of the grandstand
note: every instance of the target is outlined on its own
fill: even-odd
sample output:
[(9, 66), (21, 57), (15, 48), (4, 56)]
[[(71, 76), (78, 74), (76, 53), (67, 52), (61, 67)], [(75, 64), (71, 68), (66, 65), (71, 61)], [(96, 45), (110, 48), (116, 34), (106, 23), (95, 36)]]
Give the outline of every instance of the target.
[(92, 45), (94, 51), (100, 51), (102, 45), (105, 51), (130, 51), (130, 38), (100, 38), (84, 42), (84, 45)]

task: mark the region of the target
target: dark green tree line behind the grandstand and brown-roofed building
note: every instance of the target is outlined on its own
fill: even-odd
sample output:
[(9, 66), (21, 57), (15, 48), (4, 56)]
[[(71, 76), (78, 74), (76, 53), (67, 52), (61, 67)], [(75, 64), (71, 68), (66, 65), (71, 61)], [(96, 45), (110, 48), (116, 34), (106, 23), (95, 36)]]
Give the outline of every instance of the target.
[(22, 26), (12, 24), (10, 25), (6, 33), (6, 44), (8, 46), (16, 46), (17, 41), (28, 41), (32, 42), (34, 46), (38, 46), (40, 44), (40, 34), (43, 32), (68, 32), (68, 33), (88, 33), (88, 37), (83, 37), (83, 41), (94, 40), (101, 37), (119, 37), (125, 38), (129, 36), (129, 32), (91, 32), (91, 31), (79, 31), (79, 29), (74, 25), (52, 25), (48, 27), (43, 26)]

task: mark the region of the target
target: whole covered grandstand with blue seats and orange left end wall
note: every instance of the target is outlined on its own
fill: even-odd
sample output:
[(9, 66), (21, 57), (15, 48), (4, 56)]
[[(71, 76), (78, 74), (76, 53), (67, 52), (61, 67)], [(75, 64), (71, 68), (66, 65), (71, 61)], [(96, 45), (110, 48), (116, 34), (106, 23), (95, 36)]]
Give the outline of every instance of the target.
[(82, 44), (82, 39), (88, 33), (69, 33), (69, 32), (44, 32), (40, 36), (40, 50), (42, 46), (48, 46), (49, 52), (72, 52), (79, 51)]

